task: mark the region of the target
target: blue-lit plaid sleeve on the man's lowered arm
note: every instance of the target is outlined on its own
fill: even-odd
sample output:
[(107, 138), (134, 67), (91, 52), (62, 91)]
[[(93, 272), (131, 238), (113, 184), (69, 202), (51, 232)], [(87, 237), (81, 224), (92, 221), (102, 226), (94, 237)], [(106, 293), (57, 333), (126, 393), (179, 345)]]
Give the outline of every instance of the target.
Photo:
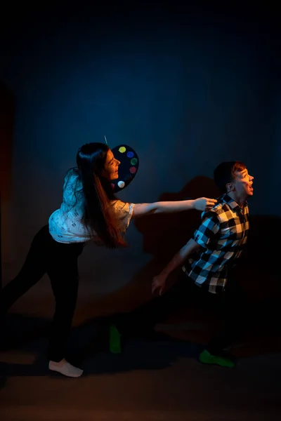
[(214, 240), (218, 234), (220, 222), (215, 212), (204, 212), (202, 214), (202, 222), (198, 229), (192, 236), (192, 239), (197, 244), (204, 248), (208, 248), (209, 243)]

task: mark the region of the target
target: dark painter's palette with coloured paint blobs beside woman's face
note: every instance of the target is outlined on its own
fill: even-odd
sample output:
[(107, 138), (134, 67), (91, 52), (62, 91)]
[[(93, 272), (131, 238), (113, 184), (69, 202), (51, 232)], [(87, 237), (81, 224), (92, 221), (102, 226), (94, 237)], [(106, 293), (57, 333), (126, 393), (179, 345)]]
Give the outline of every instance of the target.
[(118, 179), (112, 180), (111, 185), (115, 193), (127, 187), (138, 172), (138, 155), (129, 145), (118, 145), (111, 149), (115, 158), (120, 161)]

